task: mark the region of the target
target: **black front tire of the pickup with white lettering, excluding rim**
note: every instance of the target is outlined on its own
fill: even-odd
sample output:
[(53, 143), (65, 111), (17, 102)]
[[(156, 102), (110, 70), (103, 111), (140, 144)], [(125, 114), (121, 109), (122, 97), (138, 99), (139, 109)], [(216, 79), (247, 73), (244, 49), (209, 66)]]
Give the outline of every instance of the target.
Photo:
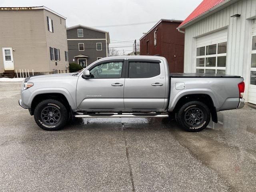
[[(50, 124), (47, 124), (46, 122), (44, 122), (44, 120), (42, 120), (41, 112), (47, 106), (52, 106), (59, 110), (60, 119), (58, 120), (58, 122), (56, 122), (56, 124), (50, 125)], [(36, 108), (34, 110), (34, 119), (36, 121), (36, 124), (44, 130), (48, 130), (48, 131), (60, 130), (66, 125), (66, 123), (68, 121), (68, 110), (58, 100), (54, 100), (54, 99), (43, 100), (42, 102), (38, 103), (38, 105), (36, 106)]]

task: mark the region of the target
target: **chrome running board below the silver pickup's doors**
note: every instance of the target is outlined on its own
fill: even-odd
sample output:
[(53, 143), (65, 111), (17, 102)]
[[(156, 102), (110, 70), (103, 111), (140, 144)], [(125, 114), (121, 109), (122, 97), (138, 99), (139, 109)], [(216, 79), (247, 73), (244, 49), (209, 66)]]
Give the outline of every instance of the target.
[(104, 115), (104, 116), (101, 116), (100, 114), (99, 115), (75, 115), (76, 118), (86, 118), (86, 117), (90, 117), (90, 118), (102, 118), (102, 117), (115, 117), (115, 118), (121, 118), (121, 117), (168, 117), (168, 114), (166, 115), (148, 115), (148, 114), (120, 114), (120, 115), (115, 115), (115, 114), (111, 114), (111, 115)]

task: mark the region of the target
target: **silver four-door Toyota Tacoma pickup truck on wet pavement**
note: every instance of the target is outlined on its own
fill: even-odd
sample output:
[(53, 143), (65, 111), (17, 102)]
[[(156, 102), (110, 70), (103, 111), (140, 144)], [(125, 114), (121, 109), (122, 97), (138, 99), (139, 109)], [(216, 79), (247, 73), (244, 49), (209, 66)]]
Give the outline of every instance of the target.
[(106, 57), (80, 73), (39, 75), (22, 82), (20, 106), (44, 130), (74, 118), (170, 117), (200, 131), (217, 112), (244, 106), (240, 76), (170, 74), (160, 56)]

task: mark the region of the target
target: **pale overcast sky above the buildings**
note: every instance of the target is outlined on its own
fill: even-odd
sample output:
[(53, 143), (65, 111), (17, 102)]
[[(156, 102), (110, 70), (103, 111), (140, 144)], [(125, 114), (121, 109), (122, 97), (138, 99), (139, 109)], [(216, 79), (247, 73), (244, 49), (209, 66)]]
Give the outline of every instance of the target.
[[(163, 19), (184, 20), (202, 0), (1, 0), (1, 7), (46, 6), (67, 17), (67, 27), (109, 26), (154, 22), (132, 26), (97, 27), (110, 33), (110, 47), (122, 54), (132, 52), (132, 41), (142, 37)], [(117, 43), (118, 41), (130, 41)]]

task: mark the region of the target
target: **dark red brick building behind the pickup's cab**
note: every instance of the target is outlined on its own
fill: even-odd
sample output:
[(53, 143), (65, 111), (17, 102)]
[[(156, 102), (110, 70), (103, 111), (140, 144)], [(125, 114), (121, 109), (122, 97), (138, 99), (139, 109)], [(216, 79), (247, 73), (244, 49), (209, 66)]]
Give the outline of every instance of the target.
[(176, 28), (179, 20), (161, 19), (147, 34), (140, 38), (140, 55), (156, 55), (168, 60), (170, 72), (183, 72), (184, 33)]

